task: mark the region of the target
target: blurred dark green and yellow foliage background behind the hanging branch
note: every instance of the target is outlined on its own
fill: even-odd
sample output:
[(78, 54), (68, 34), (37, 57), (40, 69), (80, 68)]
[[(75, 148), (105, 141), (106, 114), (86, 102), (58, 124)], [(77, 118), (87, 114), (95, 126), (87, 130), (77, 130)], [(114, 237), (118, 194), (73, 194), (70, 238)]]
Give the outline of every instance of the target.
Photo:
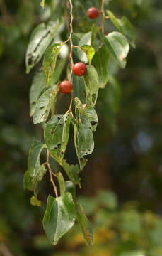
[[(100, 90), (96, 107), (95, 150), (81, 172), (82, 189), (77, 194), (94, 230), (91, 254), (77, 225), (56, 247), (45, 237), (42, 216), (52, 193), (48, 174), (40, 183), (40, 208), (30, 205), (32, 193), (23, 190), (28, 150), (33, 139), (42, 138), (40, 125), (34, 126), (29, 117), (34, 71), (25, 74), (25, 50), (33, 28), (50, 16), (63, 16), (64, 4), (47, 0), (43, 11), (39, 0), (0, 1), (2, 256), (162, 255), (162, 1), (105, 2), (116, 16), (132, 21), (137, 48), (131, 49), (125, 70), (110, 65), (110, 79)], [(91, 22), (83, 9), (100, 6), (100, 1), (75, 0), (74, 6), (74, 31), (86, 33)], [(113, 29), (107, 21), (106, 30)], [(63, 40), (65, 34), (66, 27)], [(71, 139), (71, 161), (73, 151)]]

